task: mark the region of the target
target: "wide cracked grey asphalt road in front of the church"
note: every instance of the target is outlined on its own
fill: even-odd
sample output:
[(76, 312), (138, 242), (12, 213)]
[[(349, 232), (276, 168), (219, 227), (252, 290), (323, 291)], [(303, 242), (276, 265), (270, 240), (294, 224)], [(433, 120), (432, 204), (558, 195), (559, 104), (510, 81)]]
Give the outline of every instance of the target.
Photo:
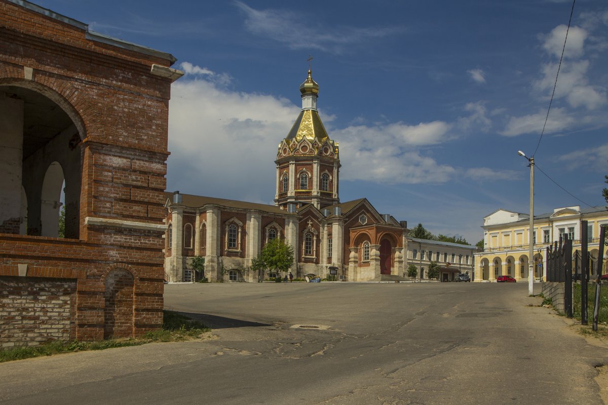
[(3, 363), (0, 402), (599, 405), (608, 389), (606, 345), (523, 283), (165, 287), (212, 338)]

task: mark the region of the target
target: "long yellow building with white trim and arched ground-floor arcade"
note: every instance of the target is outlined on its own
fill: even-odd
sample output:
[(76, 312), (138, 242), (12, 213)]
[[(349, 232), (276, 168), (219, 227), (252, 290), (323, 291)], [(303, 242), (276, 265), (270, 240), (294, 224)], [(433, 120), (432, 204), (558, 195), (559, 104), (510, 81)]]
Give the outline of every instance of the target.
[[(567, 234), (573, 251), (581, 250), (581, 221), (587, 220), (589, 253), (598, 257), (599, 227), (608, 224), (606, 206), (581, 209), (580, 206), (556, 208), (552, 213), (534, 216), (534, 278), (546, 279), (546, 248)], [(500, 275), (528, 281), (530, 252), (530, 215), (497, 209), (483, 218), (483, 252), (475, 253), (475, 281), (496, 281)]]

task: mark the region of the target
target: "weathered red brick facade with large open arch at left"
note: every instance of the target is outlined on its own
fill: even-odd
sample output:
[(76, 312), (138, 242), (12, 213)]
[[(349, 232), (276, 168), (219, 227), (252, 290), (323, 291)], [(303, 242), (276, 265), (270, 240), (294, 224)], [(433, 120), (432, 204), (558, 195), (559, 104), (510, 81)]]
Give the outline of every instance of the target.
[[(0, 0), (0, 95), (43, 95), (77, 129), (75, 237), (36, 236), (34, 220), (27, 234), (0, 233), (0, 282), (23, 291), (41, 279), (74, 283), (64, 292), (73, 328), (49, 339), (142, 335), (162, 323), (168, 100), (179, 73), (168, 69), (171, 55), (98, 38), (81, 22), (43, 11)], [(12, 321), (0, 319), (0, 344), (9, 342)]]

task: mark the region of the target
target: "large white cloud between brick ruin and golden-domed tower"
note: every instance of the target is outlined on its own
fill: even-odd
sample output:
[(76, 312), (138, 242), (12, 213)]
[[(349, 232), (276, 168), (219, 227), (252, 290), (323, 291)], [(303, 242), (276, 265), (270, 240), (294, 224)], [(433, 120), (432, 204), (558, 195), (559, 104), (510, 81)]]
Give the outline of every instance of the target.
[(233, 92), (202, 77), (171, 85), (168, 187), (268, 203), (274, 195), (272, 146), (300, 109), (284, 98)]

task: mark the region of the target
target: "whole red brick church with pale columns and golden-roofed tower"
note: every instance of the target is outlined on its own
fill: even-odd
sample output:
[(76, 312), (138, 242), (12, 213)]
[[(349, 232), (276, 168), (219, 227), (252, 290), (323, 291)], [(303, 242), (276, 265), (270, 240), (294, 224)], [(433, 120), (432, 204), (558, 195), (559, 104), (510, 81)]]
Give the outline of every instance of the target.
[(209, 281), (264, 281), (275, 274), (251, 271), (251, 261), (275, 238), (294, 247), (295, 277), (403, 279), (407, 223), (365, 198), (340, 203), (339, 145), (319, 117), (311, 70), (300, 92), (302, 111), (278, 145), (275, 205), (166, 193), (167, 281), (195, 281), (195, 256), (204, 257)]

